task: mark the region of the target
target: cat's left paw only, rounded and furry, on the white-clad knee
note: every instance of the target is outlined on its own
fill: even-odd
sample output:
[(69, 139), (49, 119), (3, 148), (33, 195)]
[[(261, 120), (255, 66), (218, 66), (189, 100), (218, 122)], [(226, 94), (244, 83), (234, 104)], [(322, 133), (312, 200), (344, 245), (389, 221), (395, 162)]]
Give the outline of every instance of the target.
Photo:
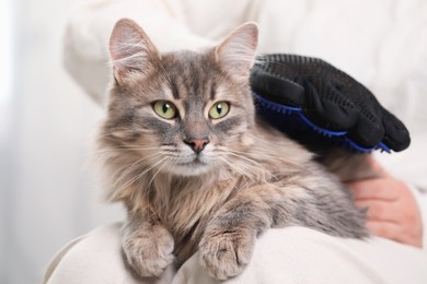
[(127, 262), (141, 276), (160, 276), (175, 259), (173, 247), (172, 235), (162, 226), (131, 234), (123, 240)]

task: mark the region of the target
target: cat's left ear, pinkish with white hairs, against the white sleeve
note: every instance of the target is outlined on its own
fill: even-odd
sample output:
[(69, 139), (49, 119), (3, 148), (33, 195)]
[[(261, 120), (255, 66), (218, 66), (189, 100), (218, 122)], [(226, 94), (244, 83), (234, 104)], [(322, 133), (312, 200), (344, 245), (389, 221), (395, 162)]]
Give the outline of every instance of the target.
[(109, 37), (109, 56), (118, 83), (135, 72), (147, 73), (159, 59), (159, 52), (143, 29), (129, 19), (116, 23)]

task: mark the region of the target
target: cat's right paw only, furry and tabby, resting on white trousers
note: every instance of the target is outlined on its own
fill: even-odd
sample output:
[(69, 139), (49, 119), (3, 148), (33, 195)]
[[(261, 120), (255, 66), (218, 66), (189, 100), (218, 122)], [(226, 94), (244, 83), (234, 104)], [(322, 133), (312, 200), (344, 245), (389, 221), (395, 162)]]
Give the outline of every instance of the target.
[(205, 234), (199, 244), (200, 262), (218, 280), (240, 274), (250, 262), (255, 242), (253, 232)]

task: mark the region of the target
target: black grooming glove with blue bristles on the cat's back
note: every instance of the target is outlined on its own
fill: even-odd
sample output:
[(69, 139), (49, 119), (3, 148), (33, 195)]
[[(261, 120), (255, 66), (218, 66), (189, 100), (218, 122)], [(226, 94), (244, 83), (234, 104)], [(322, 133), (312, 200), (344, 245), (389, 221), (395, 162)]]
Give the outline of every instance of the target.
[(369, 90), (321, 59), (284, 54), (261, 56), (252, 69), (251, 85), (258, 96), (300, 108), (313, 125), (345, 131), (349, 140), (362, 147), (382, 143), (402, 151), (409, 145), (405, 126)]

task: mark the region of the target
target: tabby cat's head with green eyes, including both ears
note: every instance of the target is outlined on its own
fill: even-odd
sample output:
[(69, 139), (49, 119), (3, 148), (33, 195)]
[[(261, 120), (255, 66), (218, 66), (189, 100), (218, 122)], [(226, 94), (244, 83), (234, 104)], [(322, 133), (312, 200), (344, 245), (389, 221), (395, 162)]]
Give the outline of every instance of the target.
[(160, 55), (134, 22), (118, 22), (104, 143), (135, 154), (129, 167), (191, 176), (231, 166), (251, 143), (256, 36), (246, 24), (208, 51)]

